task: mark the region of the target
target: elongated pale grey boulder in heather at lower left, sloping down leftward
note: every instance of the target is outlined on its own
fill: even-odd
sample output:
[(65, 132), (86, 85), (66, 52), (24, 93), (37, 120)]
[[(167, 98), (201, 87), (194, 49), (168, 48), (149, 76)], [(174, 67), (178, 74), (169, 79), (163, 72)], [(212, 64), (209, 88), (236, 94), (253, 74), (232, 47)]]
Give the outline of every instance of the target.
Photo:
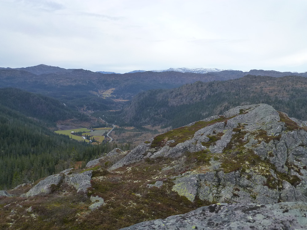
[(46, 177), (37, 183), (32, 189), (26, 194), (22, 194), (21, 197), (33, 197), (36, 195), (49, 194), (51, 192), (52, 185), (59, 185), (64, 178), (63, 174), (56, 174)]

